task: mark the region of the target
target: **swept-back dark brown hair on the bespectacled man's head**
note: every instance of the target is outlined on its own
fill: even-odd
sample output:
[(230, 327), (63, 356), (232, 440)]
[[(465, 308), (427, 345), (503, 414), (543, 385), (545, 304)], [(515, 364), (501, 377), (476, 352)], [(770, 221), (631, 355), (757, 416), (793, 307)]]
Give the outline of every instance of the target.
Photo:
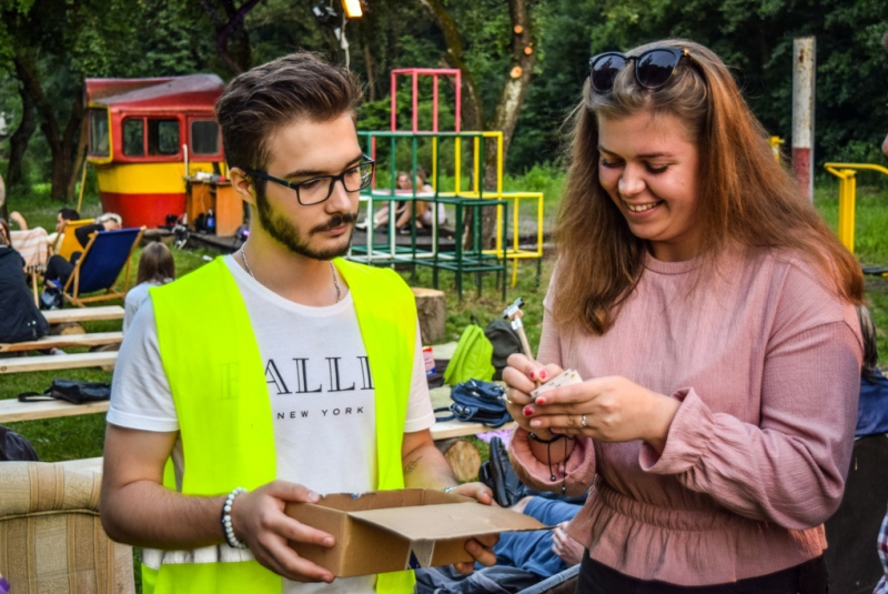
[(312, 53), (291, 53), (253, 68), (232, 80), (215, 104), (225, 160), (230, 168), (264, 171), (276, 129), (354, 113), (360, 100), (361, 87), (350, 71)]

